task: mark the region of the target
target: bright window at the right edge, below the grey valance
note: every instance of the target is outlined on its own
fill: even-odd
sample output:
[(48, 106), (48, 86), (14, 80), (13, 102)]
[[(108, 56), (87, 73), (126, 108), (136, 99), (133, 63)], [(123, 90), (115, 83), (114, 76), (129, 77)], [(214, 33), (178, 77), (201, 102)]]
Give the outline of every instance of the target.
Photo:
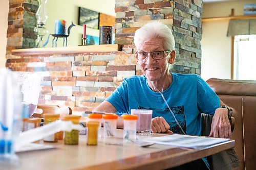
[(234, 36), (233, 75), (237, 80), (256, 80), (256, 35)]

